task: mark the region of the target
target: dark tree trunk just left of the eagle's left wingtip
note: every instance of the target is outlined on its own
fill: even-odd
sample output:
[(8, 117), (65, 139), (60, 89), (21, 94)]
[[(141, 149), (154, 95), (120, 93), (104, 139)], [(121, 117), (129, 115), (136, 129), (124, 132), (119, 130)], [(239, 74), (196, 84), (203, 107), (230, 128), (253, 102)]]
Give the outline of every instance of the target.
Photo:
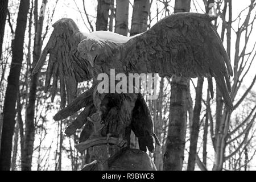
[[(46, 5), (47, 0), (43, 0), (43, 4)], [(40, 16), (38, 18), (38, 0), (35, 1), (34, 18), (35, 18), (36, 34), (35, 34), (35, 40), (34, 40), (32, 70), (39, 60), (39, 57), (41, 54), (41, 48), (42, 48), (42, 31), (43, 31), (44, 15), (40, 13)], [(37, 82), (38, 82), (38, 74), (34, 76), (31, 75), (30, 93), (28, 95), (28, 105), (27, 105), (26, 121), (25, 121), (26, 127), (25, 127), (25, 135), (24, 135), (24, 146), (23, 146), (24, 155), (22, 159), (22, 171), (31, 171), (32, 155), (33, 155), (34, 139), (35, 139), (34, 118), (35, 118)]]

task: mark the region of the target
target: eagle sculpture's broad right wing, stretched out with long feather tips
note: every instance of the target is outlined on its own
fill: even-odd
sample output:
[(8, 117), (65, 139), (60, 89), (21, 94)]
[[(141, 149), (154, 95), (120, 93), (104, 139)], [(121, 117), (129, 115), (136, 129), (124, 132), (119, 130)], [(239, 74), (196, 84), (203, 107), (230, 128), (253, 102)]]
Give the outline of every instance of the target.
[(160, 76), (212, 77), (233, 109), (229, 56), (206, 14), (177, 13), (160, 20), (150, 30), (123, 44), (122, 61), (126, 72), (159, 73)]

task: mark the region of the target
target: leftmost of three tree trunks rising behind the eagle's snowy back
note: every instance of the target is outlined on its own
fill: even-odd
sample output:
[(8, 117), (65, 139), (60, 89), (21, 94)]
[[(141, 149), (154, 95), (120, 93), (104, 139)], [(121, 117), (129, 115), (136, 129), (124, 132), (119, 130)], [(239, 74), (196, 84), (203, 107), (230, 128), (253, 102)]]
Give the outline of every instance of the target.
[(110, 4), (111, 0), (98, 0), (96, 31), (108, 30)]

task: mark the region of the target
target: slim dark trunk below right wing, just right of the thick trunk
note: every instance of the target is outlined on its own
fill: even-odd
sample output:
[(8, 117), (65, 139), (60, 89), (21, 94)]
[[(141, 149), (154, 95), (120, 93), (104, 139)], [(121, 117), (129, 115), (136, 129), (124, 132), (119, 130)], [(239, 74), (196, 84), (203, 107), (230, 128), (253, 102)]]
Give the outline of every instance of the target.
[(197, 155), (197, 140), (200, 127), (200, 114), (201, 114), (201, 100), (202, 100), (202, 90), (204, 85), (204, 78), (198, 78), (197, 88), (196, 88), (196, 102), (193, 110), (193, 122), (191, 127), (191, 136), (190, 136), (190, 147), (189, 147), (189, 156), (188, 156), (188, 171), (195, 170), (196, 164), (196, 155)]

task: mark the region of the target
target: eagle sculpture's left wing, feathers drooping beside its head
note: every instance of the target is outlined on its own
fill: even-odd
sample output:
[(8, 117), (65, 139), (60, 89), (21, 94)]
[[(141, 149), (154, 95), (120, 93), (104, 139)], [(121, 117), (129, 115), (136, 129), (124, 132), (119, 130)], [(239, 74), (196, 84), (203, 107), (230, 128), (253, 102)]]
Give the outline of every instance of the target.
[(77, 51), (78, 44), (81, 40), (86, 39), (86, 36), (79, 31), (72, 19), (60, 19), (53, 24), (53, 27), (52, 35), (32, 74), (40, 71), (49, 54), (44, 91), (48, 92), (51, 77), (53, 77), (51, 90), (53, 102), (59, 78), (61, 107), (65, 107), (66, 100), (70, 103), (76, 98), (77, 83), (90, 80), (89, 65)]

